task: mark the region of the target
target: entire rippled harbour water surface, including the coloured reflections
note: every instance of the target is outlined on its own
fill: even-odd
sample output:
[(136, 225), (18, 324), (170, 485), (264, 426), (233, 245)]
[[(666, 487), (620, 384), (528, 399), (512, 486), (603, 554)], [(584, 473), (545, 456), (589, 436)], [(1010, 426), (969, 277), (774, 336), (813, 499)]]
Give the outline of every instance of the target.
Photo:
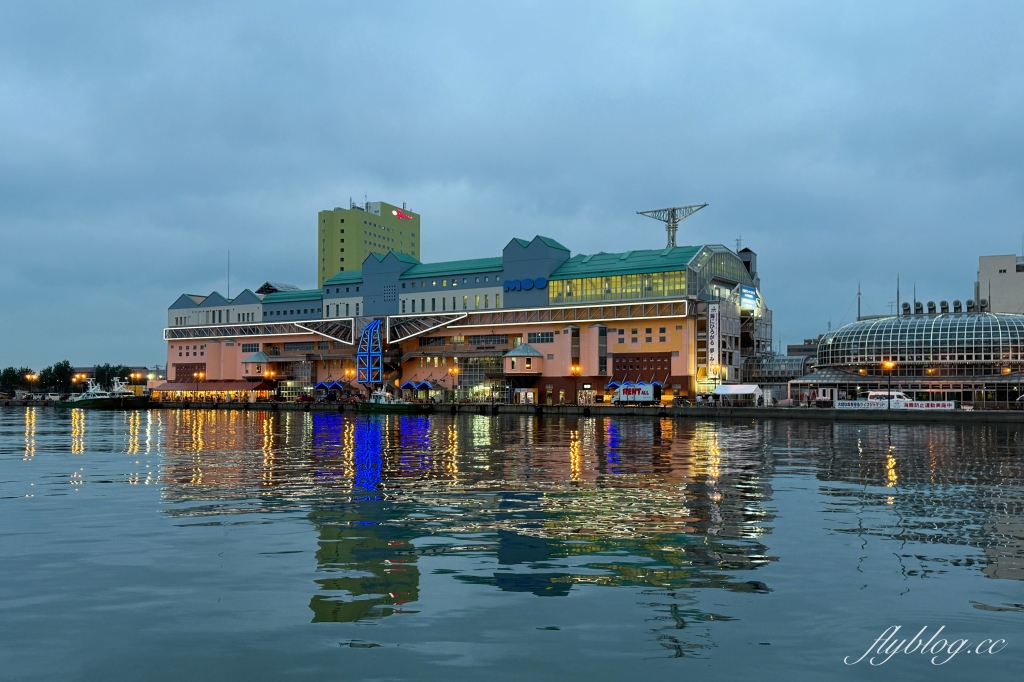
[(1018, 679), (1021, 436), (2, 410), (0, 678)]

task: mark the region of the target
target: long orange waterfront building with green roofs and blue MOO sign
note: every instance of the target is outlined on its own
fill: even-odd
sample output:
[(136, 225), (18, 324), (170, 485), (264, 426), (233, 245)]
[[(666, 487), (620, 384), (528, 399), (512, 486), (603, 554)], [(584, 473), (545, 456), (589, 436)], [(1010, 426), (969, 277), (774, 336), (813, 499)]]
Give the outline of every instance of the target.
[[(388, 204), (369, 206), (321, 213), (322, 274), (335, 233), (323, 221), (344, 214), (332, 229), (344, 224), (349, 239), (353, 215), (397, 219), (384, 220)], [(535, 237), (511, 240), (499, 256), (423, 263), (418, 217), (415, 232), (394, 224), (415, 244), (378, 239), (357, 265), (346, 251), (317, 289), (179, 297), (164, 331), (170, 383), (158, 392), (216, 381), (230, 395), (269, 382), (295, 396), (361, 384), (421, 399), (552, 404), (644, 383), (671, 400), (738, 381), (744, 358), (770, 349), (771, 311), (750, 249), (572, 255)]]

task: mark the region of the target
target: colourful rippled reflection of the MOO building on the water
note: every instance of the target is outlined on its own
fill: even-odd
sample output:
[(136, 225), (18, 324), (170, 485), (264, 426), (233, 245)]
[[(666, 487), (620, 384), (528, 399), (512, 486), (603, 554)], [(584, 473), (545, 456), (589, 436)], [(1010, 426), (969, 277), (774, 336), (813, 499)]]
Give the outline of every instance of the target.
[(544, 597), (646, 589), (651, 622), (667, 624), (655, 639), (681, 654), (703, 646), (699, 632), (662, 628), (728, 617), (687, 591), (769, 589), (751, 572), (771, 560), (767, 456), (723, 458), (719, 437), (670, 420), (180, 411), (164, 494), (187, 503), (175, 515), (308, 506), (313, 622), (416, 611), (423, 557), (471, 557), (494, 568), (444, 572)]

